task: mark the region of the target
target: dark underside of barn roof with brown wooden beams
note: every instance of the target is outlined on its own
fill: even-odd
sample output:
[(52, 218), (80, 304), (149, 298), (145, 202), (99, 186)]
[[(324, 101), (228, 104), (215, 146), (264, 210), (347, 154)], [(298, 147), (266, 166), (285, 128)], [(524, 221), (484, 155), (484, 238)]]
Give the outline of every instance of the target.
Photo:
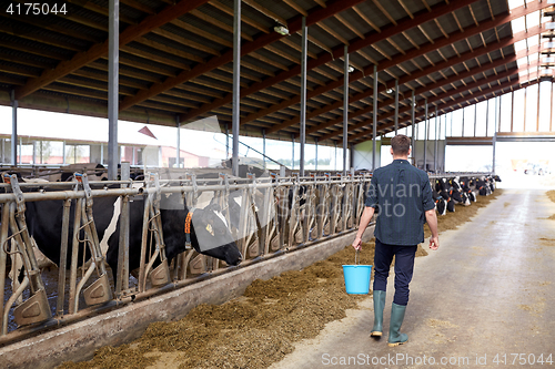
[[(350, 61), (355, 66), (350, 74), (352, 143), (370, 139), (362, 133), (369, 131), (366, 126), (371, 124), (374, 62), (380, 71), (377, 124), (382, 133), (391, 130), (393, 121), (393, 96), (385, 93), (385, 89), (393, 88), (395, 79), (400, 81), (402, 100), (410, 99), (414, 90), (420, 105), (427, 98), (440, 111), (447, 112), (465, 104), (453, 101), (462, 99), (461, 94), (470, 96), (466, 85), (492, 79), (495, 72), (505, 75), (507, 70), (516, 68), (507, 58), (515, 53), (514, 42), (502, 50), (495, 47), (498, 40), (513, 37), (506, 22), (495, 21), (508, 13), (505, 0), (453, 0), (448, 7), (457, 9), (441, 16), (438, 12), (447, 7), (442, 0), (327, 0), (325, 9), (313, 0), (291, 0), (291, 4), (251, 1), (255, 1), (259, 9), (243, 3), (241, 24), (242, 44), (248, 50), (241, 59), (241, 82), (242, 90), (249, 91), (241, 102), (241, 124), (251, 135), (261, 134), (261, 127), (266, 129), (269, 137), (297, 132), (301, 37), (293, 33), (286, 42), (263, 41), (274, 32), (273, 27), (278, 24), (274, 18), (286, 20), (289, 27), (300, 24), (302, 13), (297, 9), (307, 13), (310, 22), (315, 22), (309, 28), (310, 141), (342, 137), (337, 122), (342, 119), (344, 42), (349, 44)], [(171, 7), (181, 4), (161, 0), (134, 0), (133, 3), (120, 6), (121, 31), (137, 28), (141, 22), (148, 27), (149, 22), (163, 17), (164, 9), (178, 9)], [(532, 13), (547, 4), (534, 1), (528, 8), (526, 12)], [(90, 109), (91, 115), (105, 114), (99, 106), (107, 106), (108, 53), (100, 59), (87, 59), (87, 55), (107, 41), (108, 0), (71, 0), (67, 9), (67, 17), (1, 16), (0, 89), (16, 90), (20, 106), (26, 105), (26, 99), (32, 98), (29, 105), (37, 107), (41, 96), (59, 96), (70, 102), (70, 112)], [(164, 19), (165, 24), (122, 47), (121, 116), (172, 125), (175, 114), (186, 121), (216, 114), (221, 122), (230, 122), (232, 9), (233, 0), (212, 0), (190, 12), (175, 11), (172, 14), (176, 21)], [(492, 25), (484, 28), (484, 23)], [(505, 64), (500, 62), (504, 59), (507, 59)], [(488, 66), (492, 62), (498, 65), (495, 72)], [(464, 78), (456, 80), (455, 71)], [(38, 82), (39, 75), (44, 82)], [(445, 84), (442, 82), (445, 79), (455, 82)], [(512, 83), (519, 83), (516, 73), (511, 81), (507, 76), (500, 78), (495, 83), (497, 90), (482, 86), (471, 91), (473, 98), (480, 100)], [(442, 98), (453, 92), (461, 94), (454, 100)], [(0, 103), (10, 102), (0, 100)], [(71, 104), (75, 106), (73, 110)], [(407, 102), (402, 101), (401, 105), (407, 106)], [(49, 109), (47, 100), (43, 109)], [(422, 111), (418, 107), (418, 114)], [(405, 124), (408, 116), (403, 113), (401, 123)]]

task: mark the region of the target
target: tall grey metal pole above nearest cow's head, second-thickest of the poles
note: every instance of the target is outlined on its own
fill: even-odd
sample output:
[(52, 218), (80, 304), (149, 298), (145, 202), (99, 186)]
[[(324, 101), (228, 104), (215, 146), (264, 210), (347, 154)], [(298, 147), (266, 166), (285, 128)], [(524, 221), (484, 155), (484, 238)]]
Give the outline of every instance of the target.
[(234, 0), (233, 13), (233, 160), (231, 173), (239, 175), (239, 125), (240, 125), (240, 78), (241, 78), (241, 0)]

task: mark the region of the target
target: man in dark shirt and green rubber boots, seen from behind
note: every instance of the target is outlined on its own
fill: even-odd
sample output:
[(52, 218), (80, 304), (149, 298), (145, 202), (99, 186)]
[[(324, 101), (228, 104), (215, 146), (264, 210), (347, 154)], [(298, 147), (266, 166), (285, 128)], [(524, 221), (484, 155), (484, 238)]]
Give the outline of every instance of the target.
[(393, 137), (391, 154), (393, 163), (375, 170), (372, 175), (366, 207), (353, 247), (362, 248), (362, 234), (377, 209), (374, 230), (376, 238), (373, 287), (374, 327), (371, 336), (382, 336), (385, 287), (390, 265), (395, 256), (395, 294), (387, 340), (387, 345), (394, 347), (408, 340), (408, 337), (401, 334), (400, 329), (408, 303), (408, 284), (413, 277), (414, 255), (417, 245), (424, 242), (424, 222), (427, 222), (432, 230), (430, 248), (437, 249), (440, 239), (435, 204), (427, 174), (408, 163), (411, 140), (402, 134)]

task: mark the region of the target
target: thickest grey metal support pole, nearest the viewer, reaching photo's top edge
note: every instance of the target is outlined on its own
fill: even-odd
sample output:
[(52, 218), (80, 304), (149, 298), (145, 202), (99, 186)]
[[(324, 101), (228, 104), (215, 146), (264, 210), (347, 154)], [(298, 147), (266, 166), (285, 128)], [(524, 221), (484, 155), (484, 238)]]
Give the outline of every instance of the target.
[(109, 4), (108, 51), (108, 181), (118, 178), (118, 109), (120, 64), (120, 0)]

